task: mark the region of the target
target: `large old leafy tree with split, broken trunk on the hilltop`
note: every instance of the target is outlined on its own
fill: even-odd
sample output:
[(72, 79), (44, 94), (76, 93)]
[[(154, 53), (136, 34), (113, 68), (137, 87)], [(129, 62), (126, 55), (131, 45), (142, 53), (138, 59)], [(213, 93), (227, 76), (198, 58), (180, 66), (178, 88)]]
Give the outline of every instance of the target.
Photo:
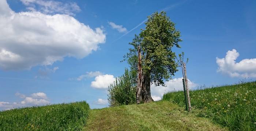
[(152, 102), (150, 85), (165, 86), (164, 81), (172, 79), (178, 71), (172, 47), (180, 48), (180, 31), (165, 12), (153, 13), (145, 24), (146, 28), (129, 43), (133, 48), (124, 56), (137, 83), (137, 104)]

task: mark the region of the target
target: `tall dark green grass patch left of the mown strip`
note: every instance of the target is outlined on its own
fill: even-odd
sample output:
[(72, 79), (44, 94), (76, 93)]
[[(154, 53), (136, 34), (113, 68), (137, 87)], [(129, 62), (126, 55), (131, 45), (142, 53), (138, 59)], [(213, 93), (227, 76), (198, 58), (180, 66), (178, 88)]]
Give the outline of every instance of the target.
[(2, 111), (0, 131), (79, 131), (89, 110), (86, 102), (75, 102)]

